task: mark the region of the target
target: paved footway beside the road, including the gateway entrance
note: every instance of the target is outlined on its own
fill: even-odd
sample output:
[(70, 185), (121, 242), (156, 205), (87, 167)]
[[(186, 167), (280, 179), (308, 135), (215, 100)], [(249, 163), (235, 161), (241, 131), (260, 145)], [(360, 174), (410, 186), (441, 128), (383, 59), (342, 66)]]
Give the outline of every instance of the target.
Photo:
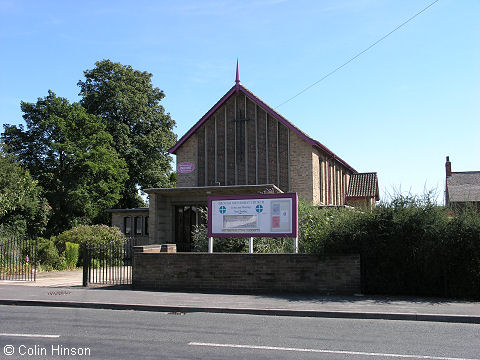
[(371, 296), (238, 295), (81, 287), (81, 271), (0, 281), (0, 304), (160, 312), (444, 321), (480, 324), (480, 302)]

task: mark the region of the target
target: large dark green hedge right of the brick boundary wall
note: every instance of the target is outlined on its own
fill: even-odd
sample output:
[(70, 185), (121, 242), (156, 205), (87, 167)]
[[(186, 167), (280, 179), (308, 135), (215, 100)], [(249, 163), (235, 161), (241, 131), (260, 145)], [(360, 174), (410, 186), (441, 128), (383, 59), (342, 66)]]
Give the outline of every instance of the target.
[(339, 211), (320, 253), (360, 253), (367, 294), (480, 299), (480, 214), (453, 214), (423, 198), (397, 196), (373, 211)]

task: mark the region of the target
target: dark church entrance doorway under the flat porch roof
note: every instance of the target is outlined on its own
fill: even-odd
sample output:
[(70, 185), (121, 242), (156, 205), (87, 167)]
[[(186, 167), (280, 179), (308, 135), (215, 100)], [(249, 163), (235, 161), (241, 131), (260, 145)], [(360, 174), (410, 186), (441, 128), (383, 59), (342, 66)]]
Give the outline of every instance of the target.
[(175, 244), (178, 252), (193, 250), (192, 231), (198, 224), (200, 224), (198, 206), (175, 206)]

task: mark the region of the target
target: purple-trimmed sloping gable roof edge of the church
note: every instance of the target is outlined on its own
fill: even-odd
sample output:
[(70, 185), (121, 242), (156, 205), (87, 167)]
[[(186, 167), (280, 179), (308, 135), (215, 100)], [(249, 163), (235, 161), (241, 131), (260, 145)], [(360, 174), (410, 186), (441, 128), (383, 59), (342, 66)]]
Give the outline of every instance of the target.
[(324, 146), (322, 143), (319, 141), (316, 141), (312, 139), (310, 136), (305, 134), (303, 131), (298, 129), (295, 125), (293, 125), (290, 121), (288, 121), (286, 118), (284, 118), (282, 115), (280, 115), (278, 112), (276, 112), (272, 107), (268, 106), (266, 103), (264, 103), (259, 97), (257, 97), (254, 93), (252, 93), (250, 90), (248, 90), (245, 86), (240, 84), (239, 81), (236, 81), (236, 84), (210, 109), (207, 111), (205, 115), (202, 116), (202, 118), (197, 121), (195, 125), (193, 125), (190, 130), (187, 131), (185, 135), (183, 135), (178, 142), (168, 149), (168, 152), (170, 154), (175, 154), (176, 151), (180, 146), (183, 145), (209, 118), (212, 116), (215, 111), (217, 111), (223, 104), (225, 104), (228, 99), (233, 96), (237, 92), (242, 92), (245, 94), (251, 101), (256, 103), (258, 106), (260, 106), (262, 109), (264, 109), (267, 113), (269, 113), (273, 118), (277, 119), (280, 123), (285, 125), (287, 128), (295, 132), (298, 136), (300, 136), (301, 139), (312, 145), (313, 147), (327, 153), (330, 157), (334, 158), (336, 161), (338, 161), (340, 164), (345, 166), (347, 169), (352, 171), (353, 173), (356, 173), (357, 171), (351, 167), (347, 162), (342, 160), (340, 157), (335, 155), (330, 149), (328, 149), (326, 146)]

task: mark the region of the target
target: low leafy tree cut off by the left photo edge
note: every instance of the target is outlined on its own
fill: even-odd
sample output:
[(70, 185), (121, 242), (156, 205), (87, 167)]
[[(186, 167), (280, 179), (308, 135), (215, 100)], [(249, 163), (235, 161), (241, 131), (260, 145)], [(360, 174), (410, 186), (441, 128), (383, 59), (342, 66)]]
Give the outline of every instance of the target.
[(0, 148), (0, 237), (40, 235), (49, 209), (38, 182)]

